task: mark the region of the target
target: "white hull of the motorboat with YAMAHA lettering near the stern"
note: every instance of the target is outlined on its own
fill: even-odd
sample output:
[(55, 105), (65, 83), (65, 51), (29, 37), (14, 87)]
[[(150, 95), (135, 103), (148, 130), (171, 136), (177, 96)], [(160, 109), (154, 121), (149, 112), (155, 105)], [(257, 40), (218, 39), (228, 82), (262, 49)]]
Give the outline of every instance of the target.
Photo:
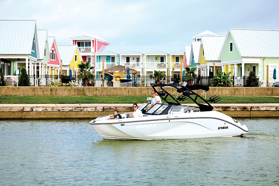
[(151, 115), (119, 120), (96, 119), (90, 124), (102, 137), (113, 140), (228, 137), (248, 133), (246, 125), (241, 125), (217, 111)]

